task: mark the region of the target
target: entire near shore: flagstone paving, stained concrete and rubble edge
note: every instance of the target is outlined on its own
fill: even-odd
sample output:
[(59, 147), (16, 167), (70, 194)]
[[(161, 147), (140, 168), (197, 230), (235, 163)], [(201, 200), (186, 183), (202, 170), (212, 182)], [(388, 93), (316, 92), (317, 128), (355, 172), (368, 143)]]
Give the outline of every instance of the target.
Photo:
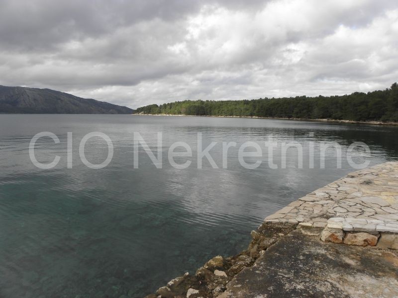
[[(292, 202), (251, 237), (241, 253), (216, 256), (146, 298), (398, 297), (398, 162)], [(370, 282), (379, 277), (381, 287)]]

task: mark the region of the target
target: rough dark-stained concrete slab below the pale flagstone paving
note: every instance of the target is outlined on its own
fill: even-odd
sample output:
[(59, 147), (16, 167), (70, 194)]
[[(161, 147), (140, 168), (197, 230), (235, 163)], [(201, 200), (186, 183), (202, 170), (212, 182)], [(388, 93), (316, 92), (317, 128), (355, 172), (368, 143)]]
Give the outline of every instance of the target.
[(220, 298), (398, 298), (398, 252), (291, 232), (243, 269)]

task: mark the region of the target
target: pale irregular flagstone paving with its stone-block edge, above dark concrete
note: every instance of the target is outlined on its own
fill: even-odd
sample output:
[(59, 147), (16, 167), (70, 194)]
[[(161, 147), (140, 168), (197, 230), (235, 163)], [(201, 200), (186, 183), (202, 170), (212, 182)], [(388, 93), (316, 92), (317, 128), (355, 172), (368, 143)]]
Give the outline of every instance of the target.
[(376, 245), (382, 235), (380, 245), (398, 249), (398, 238), (389, 236), (398, 233), (398, 162), (350, 173), (289, 204), (265, 222), (324, 228), (322, 240), (337, 243), (358, 244), (350, 234), (364, 232), (361, 239), (368, 237), (364, 241), (369, 243), (360, 245)]

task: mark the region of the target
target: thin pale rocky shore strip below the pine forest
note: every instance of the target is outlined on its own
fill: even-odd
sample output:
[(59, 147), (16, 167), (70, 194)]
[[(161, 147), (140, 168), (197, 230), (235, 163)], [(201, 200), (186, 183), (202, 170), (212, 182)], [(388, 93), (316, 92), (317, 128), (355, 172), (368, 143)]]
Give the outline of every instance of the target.
[(256, 116), (211, 116), (211, 115), (174, 115), (174, 114), (131, 114), (131, 116), (175, 116), (175, 117), (211, 117), (211, 118), (248, 118), (248, 119), (269, 119), (269, 120), (293, 120), (293, 121), (310, 121), (320, 123), (341, 123), (341, 124), (369, 124), (383, 126), (398, 126), (398, 122), (382, 122), (382, 121), (354, 121), (354, 120), (333, 120), (333, 119), (307, 119), (307, 118), (273, 118), (273, 117), (256, 117)]

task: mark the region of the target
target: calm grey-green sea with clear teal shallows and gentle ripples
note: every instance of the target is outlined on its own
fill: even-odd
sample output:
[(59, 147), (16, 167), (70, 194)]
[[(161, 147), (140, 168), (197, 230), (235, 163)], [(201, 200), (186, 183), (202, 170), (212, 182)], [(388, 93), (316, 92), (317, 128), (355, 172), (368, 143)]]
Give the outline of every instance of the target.
[[(35, 146), (39, 162), (61, 159), (52, 169), (39, 169), (29, 158), (29, 143), (39, 132), (52, 132), (55, 144), (41, 138)], [(73, 167), (67, 168), (67, 133), (72, 132)], [(102, 169), (88, 168), (79, 144), (90, 132), (102, 132), (113, 143), (113, 158)], [(140, 133), (155, 156), (157, 133), (162, 133), (158, 169), (142, 146), (134, 168), (134, 132)], [(198, 169), (198, 133), (202, 148), (216, 142)], [(313, 133), (313, 136), (310, 135)], [(274, 163), (268, 165), (269, 136)], [(239, 146), (252, 141), (262, 157), (256, 169), (238, 161)], [(186, 142), (193, 157), (186, 169), (168, 161), (174, 142)], [(222, 168), (222, 143), (236, 142)], [(303, 149), (287, 150), (282, 143)], [(314, 169), (309, 144), (314, 143)], [(143, 297), (185, 272), (194, 273), (215, 255), (245, 249), (250, 230), (262, 220), (312, 190), (354, 171), (345, 155), (353, 142), (364, 142), (371, 164), (398, 160), (398, 128), (341, 125), (304, 121), (163, 117), (130, 115), (0, 115), (0, 297), (1, 298), (119, 298)], [(321, 169), (319, 144), (342, 147), (342, 168), (336, 149), (325, 153)], [(176, 151), (184, 151), (181, 147)], [(245, 151), (250, 151), (246, 149)], [(360, 151), (354, 150), (354, 153)], [(108, 154), (104, 140), (95, 137), (85, 147), (92, 163)], [(158, 164), (159, 166), (159, 164)]]

